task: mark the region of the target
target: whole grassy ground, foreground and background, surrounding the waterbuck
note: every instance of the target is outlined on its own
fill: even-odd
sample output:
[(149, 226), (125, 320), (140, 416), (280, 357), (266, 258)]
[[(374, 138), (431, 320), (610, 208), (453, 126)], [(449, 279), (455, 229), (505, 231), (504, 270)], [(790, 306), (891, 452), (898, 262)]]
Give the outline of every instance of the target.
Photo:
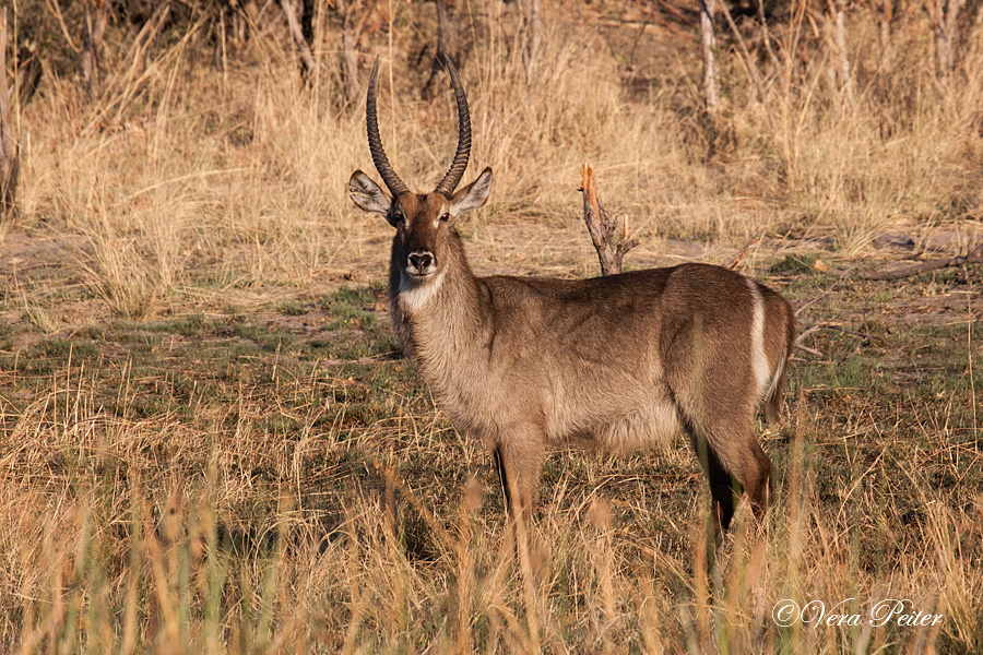
[[(410, 38), (416, 5), (394, 4)], [(690, 43), (629, 98), (626, 55), (591, 16), (554, 8), (530, 75), (516, 8), (474, 11), (473, 170), (496, 172), (462, 228), (481, 271), (594, 274), (576, 191), (589, 160), (643, 241), (630, 265), (720, 262), (767, 228), (746, 272), (815, 300), (806, 325), (871, 335), (820, 330), (806, 344), (820, 355), (794, 362), (790, 425), (765, 438), (780, 472), (768, 529), (742, 514), (708, 567), (682, 441), (559, 452), (520, 574), (488, 455), (393, 359), (365, 288), (390, 233), (344, 194), (353, 169), (371, 172), (360, 107), (330, 71), (298, 84), (274, 21), (225, 73), (199, 26), (117, 67), (94, 105), (49, 76), (22, 117), (22, 214), (0, 243), (0, 650), (983, 648), (983, 281), (834, 284), (888, 228), (979, 238), (980, 28), (946, 92), (924, 23), (899, 26), (878, 72), (876, 26), (853, 16), (854, 107), (821, 39), (765, 102), (722, 56), (713, 122)], [(396, 43), (380, 47), (395, 81), (383, 68), (383, 140), (426, 188), (455, 117), (449, 93), (418, 99)], [(909, 598), (944, 621), (781, 628), (783, 598), (845, 614)]]

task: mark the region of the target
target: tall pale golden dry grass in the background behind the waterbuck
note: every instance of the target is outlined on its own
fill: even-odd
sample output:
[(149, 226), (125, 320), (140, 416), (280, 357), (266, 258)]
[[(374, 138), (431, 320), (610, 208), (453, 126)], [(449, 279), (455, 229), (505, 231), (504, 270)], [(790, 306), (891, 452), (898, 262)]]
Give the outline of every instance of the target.
[[(857, 254), (892, 225), (976, 216), (980, 53), (970, 49), (967, 78), (944, 96), (929, 86), (927, 45), (914, 32), (923, 25), (896, 35), (912, 47), (896, 48), (892, 74), (863, 62), (855, 107), (829, 87), (821, 50), (795, 69), (790, 92), (775, 83), (765, 103), (745, 86), (739, 60), (725, 59), (732, 97), (719, 128), (700, 117), (688, 85), (696, 62), (661, 62), (648, 98), (627, 102), (616, 53), (590, 25), (548, 23), (552, 38), (530, 76), (510, 9), (478, 11), (487, 27), (463, 76), (472, 159), (495, 169), (496, 190), (475, 230), (533, 218), (549, 227), (543, 239), (579, 236), (575, 189), (584, 160), (655, 252), (660, 236), (733, 248), (768, 227), (773, 237), (830, 238)], [(874, 39), (871, 29), (856, 24), (858, 44)], [(21, 199), (29, 226), (43, 222), (73, 279), (127, 317), (185, 306), (202, 289), (297, 288), (364, 262), (371, 267), (359, 277), (377, 278), (384, 258), (366, 247), (386, 228), (343, 193), (352, 169), (371, 165), (360, 111), (339, 107), (337, 81), (325, 73), (299, 86), (272, 27), (254, 34), (244, 63), (225, 75), (187, 41), (143, 67), (121, 67), (96, 106), (73, 81), (54, 80), (28, 107)], [(453, 148), (450, 95), (421, 102), (415, 73), (400, 57), (392, 66), (383, 73), (396, 82), (382, 92), (383, 136), (403, 176), (428, 188)], [(581, 259), (577, 272), (585, 274), (590, 259)]]

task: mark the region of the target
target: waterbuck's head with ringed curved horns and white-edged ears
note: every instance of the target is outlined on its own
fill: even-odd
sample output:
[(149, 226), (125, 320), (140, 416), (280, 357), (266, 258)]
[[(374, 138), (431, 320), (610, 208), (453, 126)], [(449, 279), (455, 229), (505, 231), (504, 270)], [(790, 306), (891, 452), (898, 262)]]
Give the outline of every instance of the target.
[(382, 214), (389, 224), (396, 228), (392, 243), (392, 262), (400, 267), (401, 282), (407, 287), (426, 285), (441, 277), (454, 241), (451, 236), (454, 219), (464, 212), (485, 204), (492, 191), (490, 168), (485, 168), (475, 181), (454, 191), (464, 176), (471, 154), (471, 115), (458, 71), (454, 70), (450, 59), (446, 61), (458, 102), (458, 151), (454, 153), (450, 169), (437, 188), (430, 193), (410, 191), (392, 169), (386, 151), (382, 150), (379, 121), (376, 116), (378, 57), (369, 79), (365, 122), (372, 162), (391, 196), (360, 170), (353, 172), (348, 180), (348, 193), (355, 204), (366, 212)]

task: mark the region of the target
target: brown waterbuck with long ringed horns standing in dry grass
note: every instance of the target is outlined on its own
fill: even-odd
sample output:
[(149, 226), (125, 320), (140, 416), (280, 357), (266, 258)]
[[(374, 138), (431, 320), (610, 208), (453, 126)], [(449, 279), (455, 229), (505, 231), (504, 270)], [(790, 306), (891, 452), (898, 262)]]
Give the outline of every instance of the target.
[(471, 117), (458, 104), (458, 148), (430, 193), (413, 193), (389, 164), (376, 117), (379, 60), (366, 100), (369, 151), (391, 193), (356, 170), (356, 205), (396, 233), (389, 269), (391, 317), (453, 425), (495, 454), (506, 507), (528, 528), (547, 445), (628, 450), (685, 432), (725, 531), (734, 497), (763, 511), (771, 462), (755, 438), (766, 401), (778, 419), (794, 314), (777, 293), (706, 264), (568, 281), (477, 277), (454, 229), (481, 207), (492, 169), (455, 191), (467, 167)]

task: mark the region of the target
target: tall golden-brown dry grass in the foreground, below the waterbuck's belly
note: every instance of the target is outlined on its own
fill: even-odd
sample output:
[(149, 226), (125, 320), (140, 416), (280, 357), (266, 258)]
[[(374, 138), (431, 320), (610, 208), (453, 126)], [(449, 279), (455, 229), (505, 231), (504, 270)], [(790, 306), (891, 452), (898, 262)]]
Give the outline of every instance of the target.
[[(944, 432), (884, 427), (891, 408), (844, 417), (795, 403), (791, 441), (769, 442), (783, 478), (769, 531), (743, 516), (710, 576), (702, 483), (682, 443), (654, 469), (651, 455), (554, 455), (545, 559), (525, 587), (500, 499), (483, 499), (487, 455), (425, 398), (383, 394), (374, 420), (348, 427), (357, 377), (286, 366), (279, 378), (268, 364), (238, 392), (192, 393), (188, 414), (147, 412), (151, 396), (180, 404), (175, 379), (190, 373), (130, 361), (116, 374), (69, 361), (50, 382), (28, 370), (10, 384), (37, 390), (7, 422), (0, 469), (11, 652), (924, 652), (940, 635), (968, 652), (983, 636), (979, 489), (929, 477), (955, 456), (979, 480), (980, 454)], [(98, 396), (114, 389), (107, 407)], [(845, 425), (822, 427), (833, 416)], [(782, 598), (854, 598), (842, 609), (864, 612), (896, 597), (945, 622), (771, 622)]]

